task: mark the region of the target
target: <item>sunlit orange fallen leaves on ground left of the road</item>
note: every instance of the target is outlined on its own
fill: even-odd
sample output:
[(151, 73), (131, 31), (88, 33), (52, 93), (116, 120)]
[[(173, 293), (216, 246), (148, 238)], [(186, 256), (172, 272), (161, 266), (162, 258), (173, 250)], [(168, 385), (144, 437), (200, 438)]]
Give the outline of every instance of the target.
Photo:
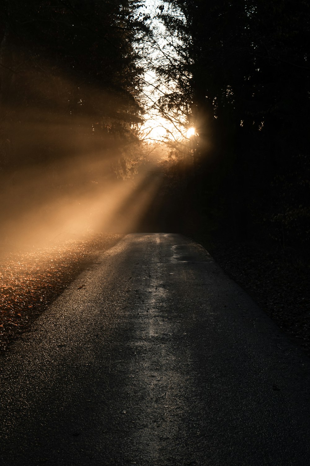
[(29, 328), (33, 319), (95, 260), (99, 252), (112, 247), (120, 238), (117, 234), (97, 234), (26, 253), (2, 251), (0, 349), (6, 349)]

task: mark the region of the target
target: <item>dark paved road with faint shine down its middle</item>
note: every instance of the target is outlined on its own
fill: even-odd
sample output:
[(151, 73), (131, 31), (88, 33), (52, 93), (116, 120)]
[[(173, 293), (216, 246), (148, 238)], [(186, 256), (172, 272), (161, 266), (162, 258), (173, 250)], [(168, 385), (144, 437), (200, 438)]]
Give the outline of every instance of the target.
[(0, 368), (4, 466), (310, 465), (310, 360), (179, 235), (126, 236)]

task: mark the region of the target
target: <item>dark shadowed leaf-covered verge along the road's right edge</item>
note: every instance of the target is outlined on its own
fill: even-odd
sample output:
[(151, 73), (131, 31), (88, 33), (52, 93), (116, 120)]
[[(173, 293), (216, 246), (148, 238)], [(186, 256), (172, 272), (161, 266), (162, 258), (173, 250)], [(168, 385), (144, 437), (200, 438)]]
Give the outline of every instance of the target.
[(294, 263), (281, 250), (199, 240), (224, 271), (310, 356), (309, 263)]

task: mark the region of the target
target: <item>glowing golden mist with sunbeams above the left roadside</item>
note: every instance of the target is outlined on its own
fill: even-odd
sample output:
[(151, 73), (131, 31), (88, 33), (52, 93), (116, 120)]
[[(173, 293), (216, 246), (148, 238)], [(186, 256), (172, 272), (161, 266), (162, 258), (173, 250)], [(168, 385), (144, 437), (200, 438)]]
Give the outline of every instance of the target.
[(3, 243), (41, 247), (136, 231), (161, 179), (152, 164), (142, 167), (139, 142), (126, 152), (85, 118), (55, 120), (28, 110), (14, 131), (15, 160), (1, 173)]

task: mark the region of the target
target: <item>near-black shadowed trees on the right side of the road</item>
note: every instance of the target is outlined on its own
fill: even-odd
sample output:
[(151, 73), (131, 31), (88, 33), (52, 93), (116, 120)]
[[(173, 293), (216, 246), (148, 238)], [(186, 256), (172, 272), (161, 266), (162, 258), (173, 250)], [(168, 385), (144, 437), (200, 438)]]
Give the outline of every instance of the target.
[(180, 176), (185, 231), (309, 251), (309, 2), (173, 0), (159, 10), (179, 57), (158, 65), (177, 82), (159, 103), (189, 103), (198, 132), (194, 175)]

